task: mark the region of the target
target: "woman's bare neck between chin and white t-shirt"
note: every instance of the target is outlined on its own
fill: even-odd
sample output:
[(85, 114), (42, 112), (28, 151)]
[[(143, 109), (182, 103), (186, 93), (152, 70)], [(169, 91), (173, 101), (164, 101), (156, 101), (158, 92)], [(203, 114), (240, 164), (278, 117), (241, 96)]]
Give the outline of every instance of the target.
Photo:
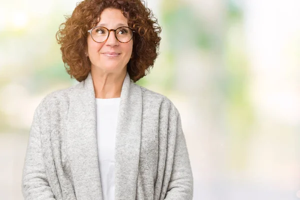
[(95, 98), (118, 98), (121, 96), (126, 67), (118, 72), (103, 72), (92, 68), (91, 76)]

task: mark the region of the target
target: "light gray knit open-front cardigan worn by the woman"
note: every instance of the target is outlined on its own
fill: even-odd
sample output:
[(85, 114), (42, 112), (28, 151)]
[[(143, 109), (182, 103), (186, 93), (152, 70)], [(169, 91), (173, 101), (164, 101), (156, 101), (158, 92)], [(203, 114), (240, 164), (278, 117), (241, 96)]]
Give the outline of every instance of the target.
[[(47, 94), (34, 111), (22, 176), (25, 199), (102, 200), (91, 73)], [(115, 137), (115, 199), (192, 199), (177, 108), (124, 78)]]

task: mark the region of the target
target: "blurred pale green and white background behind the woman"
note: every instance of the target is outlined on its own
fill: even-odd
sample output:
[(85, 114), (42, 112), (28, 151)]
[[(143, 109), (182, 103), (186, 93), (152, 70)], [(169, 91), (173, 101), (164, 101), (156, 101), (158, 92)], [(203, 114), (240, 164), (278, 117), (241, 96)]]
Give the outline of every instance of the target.
[[(0, 6), (0, 199), (23, 199), (33, 112), (76, 84), (55, 33), (76, 0)], [(300, 1), (147, 0), (160, 54), (137, 84), (178, 108), (193, 199), (300, 199)]]

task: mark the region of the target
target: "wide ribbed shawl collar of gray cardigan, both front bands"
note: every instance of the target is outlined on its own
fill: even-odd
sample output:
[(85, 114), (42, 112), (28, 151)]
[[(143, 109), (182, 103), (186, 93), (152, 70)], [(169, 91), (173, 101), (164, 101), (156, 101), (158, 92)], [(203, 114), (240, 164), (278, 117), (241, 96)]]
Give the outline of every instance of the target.
[[(67, 153), (76, 199), (103, 199), (97, 157), (91, 73), (74, 86), (67, 118)], [(141, 134), (141, 89), (128, 72), (122, 83), (115, 136), (114, 199), (135, 199)], [(125, 183), (125, 184), (124, 184)], [(62, 186), (62, 185), (61, 185)]]

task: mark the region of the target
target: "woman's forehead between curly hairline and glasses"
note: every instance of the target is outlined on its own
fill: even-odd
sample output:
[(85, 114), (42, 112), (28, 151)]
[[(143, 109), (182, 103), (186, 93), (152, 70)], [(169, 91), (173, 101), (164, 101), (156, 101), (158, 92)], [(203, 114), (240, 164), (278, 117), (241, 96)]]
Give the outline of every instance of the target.
[(97, 23), (97, 26), (113, 26), (112, 28), (127, 26), (127, 18), (120, 9), (105, 8), (100, 14), (100, 21)]

